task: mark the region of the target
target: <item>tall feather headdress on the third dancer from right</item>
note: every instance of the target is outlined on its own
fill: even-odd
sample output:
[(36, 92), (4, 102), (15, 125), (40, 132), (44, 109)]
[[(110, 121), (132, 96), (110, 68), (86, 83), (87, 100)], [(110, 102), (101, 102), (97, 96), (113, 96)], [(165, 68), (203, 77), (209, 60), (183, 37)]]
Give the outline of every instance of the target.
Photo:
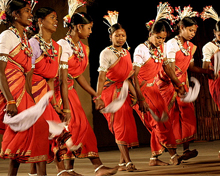
[(155, 20), (150, 20), (149, 22), (147, 22), (146, 27), (149, 29), (154, 23), (162, 19), (170, 20), (172, 25), (173, 22), (175, 21), (175, 17), (172, 13), (173, 13), (173, 8), (170, 6), (168, 2), (164, 2), (164, 3), (160, 2), (159, 5), (157, 6), (157, 16)]

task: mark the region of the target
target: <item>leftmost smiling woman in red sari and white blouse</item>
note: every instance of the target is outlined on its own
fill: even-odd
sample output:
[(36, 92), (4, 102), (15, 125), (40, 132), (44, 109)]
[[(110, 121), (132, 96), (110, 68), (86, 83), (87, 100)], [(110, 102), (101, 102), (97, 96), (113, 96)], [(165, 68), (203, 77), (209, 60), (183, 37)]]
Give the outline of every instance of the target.
[[(2, 7), (4, 4), (1, 4)], [(5, 108), (6, 113), (13, 118), (17, 113), (35, 105), (31, 97), (31, 82), (26, 78), (31, 70), (32, 50), (25, 27), (32, 22), (31, 11), (29, 3), (23, 0), (12, 0), (6, 9), (7, 21), (12, 26), (0, 35), (1, 118)], [(46, 175), (48, 131), (43, 116), (23, 132), (14, 132), (9, 126), (6, 128), (0, 156), (10, 159), (8, 175), (17, 175), (22, 162), (36, 163), (37, 174)]]

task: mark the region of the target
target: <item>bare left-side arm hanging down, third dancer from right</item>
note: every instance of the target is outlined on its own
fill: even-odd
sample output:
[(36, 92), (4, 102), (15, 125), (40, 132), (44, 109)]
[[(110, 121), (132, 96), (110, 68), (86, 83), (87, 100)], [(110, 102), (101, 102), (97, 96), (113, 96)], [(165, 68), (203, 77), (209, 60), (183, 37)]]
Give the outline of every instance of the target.
[(138, 81), (138, 73), (140, 71), (140, 67), (138, 66), (134, 66), (134, 84), (135, 84), (135, 91), (136, 91), (136, 94), (137, 94), (137, 99), (138, 99), (138, 104), (139, 104), (139, 110), (141, 112), (147, 112), (148, 111), (148, 104), (146, 103), (145, 101), (145, 98), (141, 92), (141, 88), (140, 88), (140, 85), (139, 85), (139, 81)]

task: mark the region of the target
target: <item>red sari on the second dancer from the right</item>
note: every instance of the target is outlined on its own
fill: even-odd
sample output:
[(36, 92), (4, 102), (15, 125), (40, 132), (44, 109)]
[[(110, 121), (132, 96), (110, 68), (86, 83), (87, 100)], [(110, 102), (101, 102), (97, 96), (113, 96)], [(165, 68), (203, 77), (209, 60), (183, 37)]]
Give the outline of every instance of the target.
[[(191, 47), (191, 53), (189, 56), (185, 56), (180, 50), (176, 53), (175, 58), (175, 74), (181, 82), (185, 83), (186, 91), (188, 91), (187, 69), (190, 60), (193, 57), (192, 49), (194, 47), (191, 42), (189, 42), (189, 45)], [(186, 42), (183, 47), (187, 48)], [(160, 88), (161, 95), (168, 106), (169, 116), (177, 144), (193, 140), (193, 135), (196, 133), (196, 116), (193, 103), (184, 103), (180, 101), (171, 81), (163, 70), (161, 70), (159, 74), (159, 79), (160, 80), (157, 84)]]

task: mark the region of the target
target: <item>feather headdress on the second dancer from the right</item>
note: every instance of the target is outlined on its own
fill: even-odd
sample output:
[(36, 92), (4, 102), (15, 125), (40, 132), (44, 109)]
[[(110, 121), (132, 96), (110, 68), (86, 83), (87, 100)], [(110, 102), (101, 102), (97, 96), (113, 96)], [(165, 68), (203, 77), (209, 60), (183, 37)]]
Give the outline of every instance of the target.
[(192, 11), (192, 7), (189, 6), (185, 6), (183, 8), (183, 10), (181, 11), (180, 6), (175, 7), (176, 12), (178, 13), (178, 15), (176, 16), (176, 20), (182, 20), (185, 17), (199, 17), (199, 13), (197, 11)]

